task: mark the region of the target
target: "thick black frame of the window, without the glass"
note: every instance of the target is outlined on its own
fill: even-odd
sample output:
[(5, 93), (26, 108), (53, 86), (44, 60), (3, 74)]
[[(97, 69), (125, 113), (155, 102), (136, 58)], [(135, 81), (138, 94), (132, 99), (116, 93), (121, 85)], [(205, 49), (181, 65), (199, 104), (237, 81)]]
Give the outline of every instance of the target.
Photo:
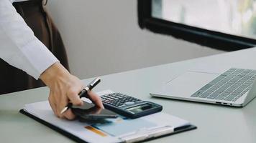
[(236, 51), (256, 46), (256, 39), (224, 34), (152, 17), (152, 0), (137, 0), (138, 23), (141, 29), (174, 36), (223, 51)]

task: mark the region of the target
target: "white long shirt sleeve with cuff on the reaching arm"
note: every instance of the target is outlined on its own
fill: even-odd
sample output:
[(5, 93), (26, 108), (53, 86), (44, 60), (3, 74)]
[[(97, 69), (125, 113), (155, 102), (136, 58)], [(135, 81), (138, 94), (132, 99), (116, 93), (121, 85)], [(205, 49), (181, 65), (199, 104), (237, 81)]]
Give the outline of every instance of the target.
[(0, 0), (0, 58), (35, 79), (58, 59), (38, 40), (12, 0)]

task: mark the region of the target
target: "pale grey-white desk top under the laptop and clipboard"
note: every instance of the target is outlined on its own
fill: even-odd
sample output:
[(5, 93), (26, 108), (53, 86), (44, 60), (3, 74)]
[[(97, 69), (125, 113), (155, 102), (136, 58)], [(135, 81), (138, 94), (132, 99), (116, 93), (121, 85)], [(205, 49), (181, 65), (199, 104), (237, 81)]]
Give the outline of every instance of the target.
[[(198, 129), (150, 142), (256, 142), (256, 99), (247, 107), (182, 102), (150, 97), (150, 89), (194, 66), (234, 66), (256, 69), (256, 48), (173, 64), (152, 66), (101, 77), (96, 92), (111, 89), (162, 104), (163, 112), (188, 119)], [(89, 82), (86, 79), (84, 82)], [(127, 88), (129, 87), (129, 88)], [(73, 142), (29, 117), (19, 114), (24, 104), (47, 100), (48, 89), (32, 89), (0, 96), (0, 142)]]

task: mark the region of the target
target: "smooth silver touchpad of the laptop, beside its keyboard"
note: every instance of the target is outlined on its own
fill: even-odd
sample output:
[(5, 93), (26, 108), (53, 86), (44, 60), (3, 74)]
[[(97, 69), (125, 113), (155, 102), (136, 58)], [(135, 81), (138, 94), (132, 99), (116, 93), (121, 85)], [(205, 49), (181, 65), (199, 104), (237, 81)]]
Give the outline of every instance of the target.
[(186, 71), (163, 87), (165, 95), (177, 97), (189, 97), (205, 84), (218, 77), (219, 74), (211, 74), (198, 71)]

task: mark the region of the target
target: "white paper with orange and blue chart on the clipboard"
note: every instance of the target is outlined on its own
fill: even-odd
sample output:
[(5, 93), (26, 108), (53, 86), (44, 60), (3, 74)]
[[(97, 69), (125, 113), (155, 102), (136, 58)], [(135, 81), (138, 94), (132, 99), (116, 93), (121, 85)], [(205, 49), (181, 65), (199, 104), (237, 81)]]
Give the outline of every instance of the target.
[[(102, 93), (106, 92), (99, 94)], [(85, 142), (136, 142), (139, 138), (142, 140), (151, 136), (157, 137), (157, 134), (170, 134), (176, 127), (190, 124), (184, 119), (163, 112), (138, 119), (122, 117), (108, 119), (108, 123), (89, 124), (78, 120), (68, 121), (55, 117), (47, 101), (26, 104), (24, 110)]]

